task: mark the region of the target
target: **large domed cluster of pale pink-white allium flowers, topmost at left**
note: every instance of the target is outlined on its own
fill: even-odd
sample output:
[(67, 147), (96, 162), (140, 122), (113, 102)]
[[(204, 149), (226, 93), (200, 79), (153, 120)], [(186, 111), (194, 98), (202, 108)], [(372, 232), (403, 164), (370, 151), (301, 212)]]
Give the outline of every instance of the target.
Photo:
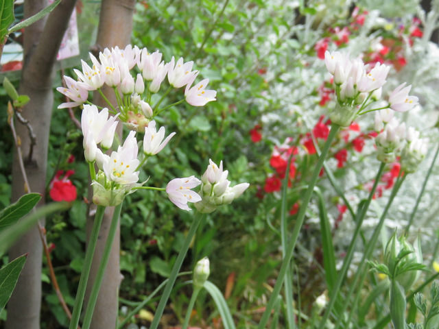
[[(216, 91), (206, 89), (209, 79), (192, 86), (199, 72), (192, 71), (193, 62), (185, 63), (183, 58), (175, 61), (172, 57), (170, 62), (165, 62), (159, 51), (150, 53), (146, 48), (131, 45), (124, 49), (106, 48), (99, 53), (99, 60), (90, 53), (90, 58), (91, 66), (82, 60), (82, 71), (74, 70), (78, 80), (64, 77), (67, 88), (59, 87), (57, 90), (71, 101), (60, 104), (58, 108), (81, 106), (87, 102), (88, 91), (100, 90), (106, 84), (115, 90), (119, 119), (131, 130), (144, 132), (154, 116), (165, 109), (158, 108), (161, 101), (154, 108), (150, 103), (152, 94), (158, 93), (166, 77), (170, 88), (186, 87), (185, 98), (181, 101), (185, 100), (192, 106), (204, 106), (209, 101), (215, 101)], [(132, 74), (130, 70), (134, 66), (141, 73)], [(116, 108), (109, 105), (116, 114)]]

